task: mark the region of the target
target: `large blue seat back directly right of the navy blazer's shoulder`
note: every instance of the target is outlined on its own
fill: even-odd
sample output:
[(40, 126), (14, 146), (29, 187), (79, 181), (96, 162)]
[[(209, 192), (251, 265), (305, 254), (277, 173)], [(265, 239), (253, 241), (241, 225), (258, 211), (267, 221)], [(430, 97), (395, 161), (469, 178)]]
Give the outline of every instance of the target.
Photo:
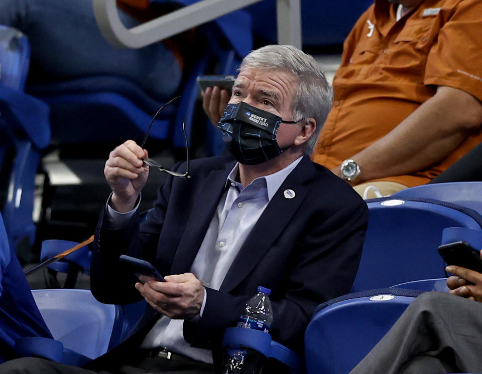
[(352, 292), (445, 277), (438, 254), (442, 231), (482, 231), (482, 216), (456, 204), (392, 197), (367, 203), (369, 226)]

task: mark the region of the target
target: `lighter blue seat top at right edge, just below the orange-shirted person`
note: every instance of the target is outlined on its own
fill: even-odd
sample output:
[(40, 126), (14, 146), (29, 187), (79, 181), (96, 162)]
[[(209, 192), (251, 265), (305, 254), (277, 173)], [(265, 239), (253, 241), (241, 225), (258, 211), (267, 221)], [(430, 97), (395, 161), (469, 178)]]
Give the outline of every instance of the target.
[(447, 182), (418, 185), (399, 191), (394, 199), (425, 198), (458, 204), (482, 214), (482, 182)]

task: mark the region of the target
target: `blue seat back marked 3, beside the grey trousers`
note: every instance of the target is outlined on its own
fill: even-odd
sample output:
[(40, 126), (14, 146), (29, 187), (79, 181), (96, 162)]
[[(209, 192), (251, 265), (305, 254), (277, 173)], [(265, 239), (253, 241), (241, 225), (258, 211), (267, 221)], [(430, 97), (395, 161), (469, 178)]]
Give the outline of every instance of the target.
[(318, 306), (305, 332), (307, 373), (348, 373), (421, 292), (375, 289)]

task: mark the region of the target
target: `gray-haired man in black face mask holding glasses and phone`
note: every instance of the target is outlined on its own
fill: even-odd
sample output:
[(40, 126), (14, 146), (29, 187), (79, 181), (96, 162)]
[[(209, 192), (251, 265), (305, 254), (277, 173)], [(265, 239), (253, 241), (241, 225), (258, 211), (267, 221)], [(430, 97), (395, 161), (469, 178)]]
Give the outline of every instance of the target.
[[(145, 298), (149, 308), (133, 338), (89, 367), (219, 371), (222, 332), (260, 285), (272, 291), (273, 339), (302, 350), (314, 308), (349, 291), (367, 226), (362, 199), (306, 154), (330, 100), (311, 56), (290, 46), (253, 51), (220, 123), (236, 159), (194, 160), (190, 178), (170, 176), (140, 226), (147, 151), (128, 140), (110, 153), (104, 173), (113, 193), (96, 233), (92, 292), (109, 303)], [(186, 163), (174, 169), (183, 173)], [(136, 283), (123, 274), (122, 254), (151, 262), (166, 282)], [(86, 372), (27, 361), (42, 373)]]

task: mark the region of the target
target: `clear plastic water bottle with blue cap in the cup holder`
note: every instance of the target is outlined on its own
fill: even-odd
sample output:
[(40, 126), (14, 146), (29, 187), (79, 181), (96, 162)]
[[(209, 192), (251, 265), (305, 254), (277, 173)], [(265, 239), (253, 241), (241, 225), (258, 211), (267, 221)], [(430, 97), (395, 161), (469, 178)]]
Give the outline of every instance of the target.
[[(270, 294), (268, 288), (258, 287), (258, 293), (246, 303), (239, 316), (237, 327), (268, 333), (273, 322)], [(230, 349), (226, 353), (223, 374), (257, 374), (264, 363), (264, 356), (253, 349)]]

